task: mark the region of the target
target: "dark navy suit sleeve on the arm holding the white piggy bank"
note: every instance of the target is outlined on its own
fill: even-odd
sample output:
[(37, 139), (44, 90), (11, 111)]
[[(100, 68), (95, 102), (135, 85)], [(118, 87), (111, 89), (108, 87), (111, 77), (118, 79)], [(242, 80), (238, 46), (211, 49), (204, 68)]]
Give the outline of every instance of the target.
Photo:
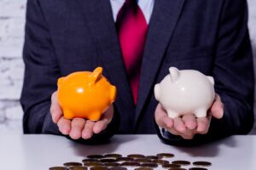
[(200, 144), (232, 134), (249, 133), (253, 127), (253, 54), (247, 30), (247, 3), (226, 0), (220, 16), (216, 55), (212, 65), (215, 91), (224, 103), (224, 117), (212, 117), (209, 132), (192, 140), (181, 139), (162, 129), (168, 144)]

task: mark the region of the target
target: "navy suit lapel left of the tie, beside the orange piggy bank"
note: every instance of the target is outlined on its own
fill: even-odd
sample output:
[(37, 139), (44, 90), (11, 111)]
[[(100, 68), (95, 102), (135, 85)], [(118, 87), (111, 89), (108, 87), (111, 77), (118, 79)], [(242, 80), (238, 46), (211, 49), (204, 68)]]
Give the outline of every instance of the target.
[[(116, 99), (117, 109), (121, 114), (121, 124), (131, 129), (134, 121), (135, 105), (131, 95), (125, 65), (119, 47), (119, 39), (113, 22), (113, 14), (109, 0), (78, 0), (86, 25), (89, 26), (92, 37), (102, 59), (102, 64), (108, 72), (110, 82), (118, 88)], [(86, 41), (86, 40), (84, 40)], [(125, 120), (125, 122), (124, 122)], [(120, 129), (124, 131), (125, 129)]]

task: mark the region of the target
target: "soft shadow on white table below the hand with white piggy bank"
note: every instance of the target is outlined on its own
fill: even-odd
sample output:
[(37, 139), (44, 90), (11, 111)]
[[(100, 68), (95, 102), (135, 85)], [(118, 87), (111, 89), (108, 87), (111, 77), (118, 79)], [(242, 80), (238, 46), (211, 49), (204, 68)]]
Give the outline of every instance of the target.
[(195, 147), (177, 147), (177, 150), (180, 152), (185, 152), (189, 156), (193, 157), (216, 157), (219, 156), (220, 148), (230, 147), (236, 148), (237, 147), (237, 139), (234, 137), (228, 137), (225, 139), (220, 139), (218, 141), (209, 143), (209, 144), (201, 144)]

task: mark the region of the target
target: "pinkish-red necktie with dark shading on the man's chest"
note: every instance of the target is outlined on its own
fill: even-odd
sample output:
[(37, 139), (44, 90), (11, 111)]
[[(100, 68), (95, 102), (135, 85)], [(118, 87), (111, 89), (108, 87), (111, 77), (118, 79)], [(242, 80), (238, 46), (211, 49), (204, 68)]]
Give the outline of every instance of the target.
[(116, 20), (119, 42), (131, 91), (137, 104), (137, 91), (148, 24), (136, 0), (126, 0)]

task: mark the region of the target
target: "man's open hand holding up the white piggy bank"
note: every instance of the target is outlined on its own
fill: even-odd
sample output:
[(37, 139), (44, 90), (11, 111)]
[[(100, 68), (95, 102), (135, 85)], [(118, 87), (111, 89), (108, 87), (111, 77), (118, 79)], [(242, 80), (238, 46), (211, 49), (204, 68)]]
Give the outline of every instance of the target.
[(194, 114), (188, 114), (177, 118), (170, 118), (162, 105), (158, 104), (154, 113), (158, 126), (166, 128), (170, 133), (179, 135), (183, 139), (193, 139), (196, 133), (206, 134), (210, 127), (212, 116), (220, 119), (224, 115), (224, 105), (218, 94), (206, 117), (197, 118)]

